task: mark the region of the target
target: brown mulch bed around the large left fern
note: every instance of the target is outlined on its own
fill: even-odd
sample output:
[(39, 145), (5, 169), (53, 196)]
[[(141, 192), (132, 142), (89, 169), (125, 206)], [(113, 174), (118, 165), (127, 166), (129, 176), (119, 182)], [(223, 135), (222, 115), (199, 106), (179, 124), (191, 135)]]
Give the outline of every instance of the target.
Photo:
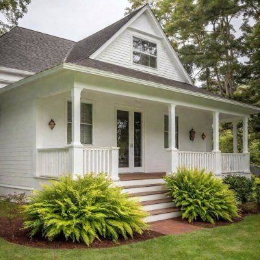
[(118, 244), (115, 244), (111, 240), (101, 239), (101, 241), (95, 240), (90, 246), (79, 242), (72, 242), (71, 240), (66, 241), (62, 237), (49, 242), (47, 239), (42, 237), (33, 237), (30, 239), (27, 237), (28, 230), (21, 227), (23, 220), (21, 218), (0, 218), (0, 237), (12, 242), (14, 244), (21, 244), (24, 246), (31, 246), (36, 248), (109, 248), (112, 246), (121, 246), (125, 244), (132, 244), (135, 242), (145, 241), (155, 237), (163, 236), (161, 233), (155, 231), (144, 231), (142, 235), (135, 233), (133, 239), (129, 238), (125, 240), (123, 237), (118, 239)]

